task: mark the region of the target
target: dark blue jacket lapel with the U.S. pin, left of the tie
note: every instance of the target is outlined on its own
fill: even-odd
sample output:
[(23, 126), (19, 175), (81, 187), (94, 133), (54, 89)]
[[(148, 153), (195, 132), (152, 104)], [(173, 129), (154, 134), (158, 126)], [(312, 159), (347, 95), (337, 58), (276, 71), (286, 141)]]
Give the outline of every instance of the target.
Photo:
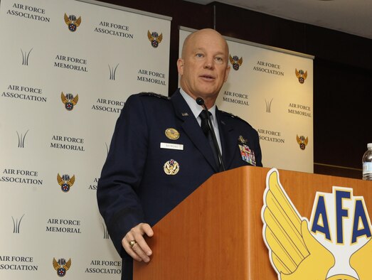
[(181, 127), (184, 129), (185, 134), (193, 142), (196, 148), (203, 154), (206, 161), (213, 167), (213, 170), (218, 172), (216, 161), (213, 157), (211, 146), (209, 146), (208, 139), (203, 134), (193, 112), (188, 107), (184, 97), (182, 97), (179, 90), (171, 96), (171, 102), (174, 106), (174, 112), (181, 121)]

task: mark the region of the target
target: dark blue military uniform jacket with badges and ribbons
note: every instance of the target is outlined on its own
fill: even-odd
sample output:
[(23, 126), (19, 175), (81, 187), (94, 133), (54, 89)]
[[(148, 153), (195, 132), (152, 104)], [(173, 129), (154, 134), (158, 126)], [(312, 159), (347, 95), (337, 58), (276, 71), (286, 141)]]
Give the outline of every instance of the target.
[[(216, 119), (225, 168), (250, 165), (253, 161), (247, 160), (247, 149), (254, 153), (256, 166), (262, 166), (257, 131), (218, 109)], [(166, 136), (170, 128), (179, 132), (178, 139)], [(183, 149), (163, 149), (161, 143), (183, 145)], [(245, 146), (243, 153), (241, 146)], [(123, 259), (122, 279), (132, 279), (132, 257), (121, 243), (124, 235), (140, 222), (153, 226), (218, 172), (212, 153), (179, 90), (171, 97), (142, 92), (127, 99), (97, 188), (100, 213)], [(167, 175), (165, 163), (176, 165), (178, 172)]]

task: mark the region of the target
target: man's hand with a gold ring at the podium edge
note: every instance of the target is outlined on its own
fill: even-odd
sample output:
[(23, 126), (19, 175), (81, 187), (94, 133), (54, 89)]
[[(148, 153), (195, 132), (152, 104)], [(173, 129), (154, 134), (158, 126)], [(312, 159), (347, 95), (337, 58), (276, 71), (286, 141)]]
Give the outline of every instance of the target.
[(124, 236), (122, 239), (122, 247), (125, 251), (138, 262), (149, 262), (149, 256), (152, 255), (152, 250), (150, 249), (149, 245), (147, 245), (146, 241), (144, 241), (144, 235), (148, 237), (152, 237), (154, 235), (154, 231), (150, 227), (149, 224), (140, 223), (129, 230), (127, 235)]

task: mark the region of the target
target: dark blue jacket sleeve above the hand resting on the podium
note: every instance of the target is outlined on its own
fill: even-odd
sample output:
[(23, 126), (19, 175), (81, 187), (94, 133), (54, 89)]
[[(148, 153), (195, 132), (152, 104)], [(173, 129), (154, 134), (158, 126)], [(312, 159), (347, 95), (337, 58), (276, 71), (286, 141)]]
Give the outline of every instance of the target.
[(98, 208), (112, 242), (123, 257), (122, 238), (144, 221), (137, 196), (147, 158), (148, 127), (141, 98), (132, 95), (122, 109), (97, 185)]

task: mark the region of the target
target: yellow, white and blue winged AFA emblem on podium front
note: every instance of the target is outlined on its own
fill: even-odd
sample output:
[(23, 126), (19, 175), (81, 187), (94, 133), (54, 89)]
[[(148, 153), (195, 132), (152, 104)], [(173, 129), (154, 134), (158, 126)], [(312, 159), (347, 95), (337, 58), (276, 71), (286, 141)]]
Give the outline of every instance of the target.
[(299, 215), (279, 172), (267, 173), (262, 234), (270, 262), (282, 280), (371, 279), (371, 220), (353, 189), (317, 192), (311, 219)]

